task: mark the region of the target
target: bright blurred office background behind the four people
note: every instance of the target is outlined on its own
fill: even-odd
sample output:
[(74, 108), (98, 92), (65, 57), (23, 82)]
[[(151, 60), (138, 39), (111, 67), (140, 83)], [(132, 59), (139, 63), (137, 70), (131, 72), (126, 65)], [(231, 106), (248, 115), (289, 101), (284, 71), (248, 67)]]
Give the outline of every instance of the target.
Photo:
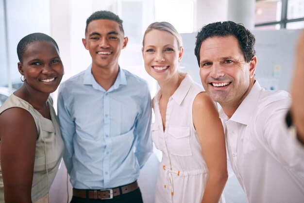
[[(119, 65), (147, 80), (152, 97), (157, 84), (145, 71), (141, 43), (145, 29), (154, 21), (168, 21), (182, 34), (185, 55), (181, 71), (198, 83), (194, 56), (197, 31), (215, 21), (243, 23), (256, 37), (259, 83), (266, 89), (289, 90), (294, 45), (299, 29), (304, 28), (304, 0), (0, 0), (0, 105), (21, 85), (16, 50), (27, 34), (41, 32), (56, 40), (65, 67), (63, 81), (86, 69), (91, 57), (82, 44), (85, 21), (98, 10), (112, 11), (123, 19), (129, 43), (121, 51)], [(56, 109), (57, 92), (52, 97)], [(145, 203), (154, 202), (160, 159), (161, 153), (155, 150), (141, 172), (139, 183)], [(57, 176), (50, 200), (67, 202), (71, 187), (64, 164)], [(231, 171), (225, 196), (227, 203), (246, 202)]]

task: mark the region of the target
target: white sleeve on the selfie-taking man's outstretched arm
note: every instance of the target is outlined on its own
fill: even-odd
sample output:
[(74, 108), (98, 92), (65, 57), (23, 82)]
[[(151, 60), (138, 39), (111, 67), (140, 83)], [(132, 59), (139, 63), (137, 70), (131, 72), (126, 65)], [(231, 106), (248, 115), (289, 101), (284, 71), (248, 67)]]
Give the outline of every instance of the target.
[(266, 106), (256, 118), (256, 129), (261, 142), (272, 156), (304, 177), (304, 147), (297, 139), (295, 130), (286, 123), (290, 101), (276, 101)]

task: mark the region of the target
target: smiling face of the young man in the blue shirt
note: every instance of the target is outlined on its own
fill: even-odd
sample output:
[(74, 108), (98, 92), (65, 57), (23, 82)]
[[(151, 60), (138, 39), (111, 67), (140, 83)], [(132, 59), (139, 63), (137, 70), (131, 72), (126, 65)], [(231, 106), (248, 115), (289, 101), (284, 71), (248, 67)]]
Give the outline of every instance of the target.
[(90, 22), (83, 39), (84, 47), (92, 57), (92, 68), (118, 68), (120, 51), (127, 42), (118, 23), (108, 19)]

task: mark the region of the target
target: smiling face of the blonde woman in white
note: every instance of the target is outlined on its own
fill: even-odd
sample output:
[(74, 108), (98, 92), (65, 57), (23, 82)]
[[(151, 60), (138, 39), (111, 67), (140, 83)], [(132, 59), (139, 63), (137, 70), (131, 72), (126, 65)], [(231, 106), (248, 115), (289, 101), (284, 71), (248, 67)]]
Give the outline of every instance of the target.
[(183, 48), (178, 47), (173, 34), (154, 29), (145, 35), (144, 45), (142, 54), (149, 75), (160, 82), (178, 74)]

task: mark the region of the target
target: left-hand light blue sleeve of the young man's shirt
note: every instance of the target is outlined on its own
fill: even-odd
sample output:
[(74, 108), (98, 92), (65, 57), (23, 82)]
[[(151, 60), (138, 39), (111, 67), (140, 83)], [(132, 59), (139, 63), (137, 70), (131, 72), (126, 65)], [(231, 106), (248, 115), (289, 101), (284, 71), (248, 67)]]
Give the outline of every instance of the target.
[(61, 85), (58, 91), (57, 113), (62, 139), (65, 144), (63, 159), (68, 169), (68, 173), (70, 174), (72, 170), (72, 156), (74, 153), (73, 136), (75, 135), (75, 123), (69, 114), (69, 109), (67, 106), (68, 101), (65, 98), (67, 93), (66, 91), (67, 90), (63, 87), (63, 85)]

